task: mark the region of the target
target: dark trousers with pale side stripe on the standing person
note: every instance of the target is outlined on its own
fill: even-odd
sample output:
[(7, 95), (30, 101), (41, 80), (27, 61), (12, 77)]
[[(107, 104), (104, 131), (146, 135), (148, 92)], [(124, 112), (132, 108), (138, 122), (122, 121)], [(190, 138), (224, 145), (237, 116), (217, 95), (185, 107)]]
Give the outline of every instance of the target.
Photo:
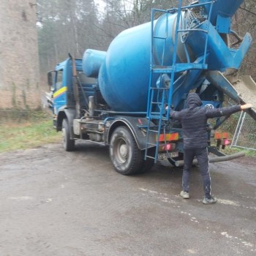
[(200, 173), (203, 178), (203, 189), (205, 197), (211, 198), (211, 176), (209, 172), (209, 159), (207, 148), (185, 148), (184, 169), (182, 175), (183, 190), (189, 192), (189, 176), (194, 157), (197, 158)]

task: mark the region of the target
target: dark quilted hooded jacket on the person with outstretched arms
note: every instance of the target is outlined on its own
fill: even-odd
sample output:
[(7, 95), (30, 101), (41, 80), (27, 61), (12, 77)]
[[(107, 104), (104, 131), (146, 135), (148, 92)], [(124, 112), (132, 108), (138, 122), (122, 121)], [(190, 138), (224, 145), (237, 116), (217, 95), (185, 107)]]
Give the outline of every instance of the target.
[(200, 97), (190, 93), (187, 97), (188, 108), (171, 111), (170, 116), (181, 121), (184, 148), (204, 148), (207, 143), (207, 119), (219, 116), (230, 116), (241, 110), (241, 105), (226, 108), (201, 108)]

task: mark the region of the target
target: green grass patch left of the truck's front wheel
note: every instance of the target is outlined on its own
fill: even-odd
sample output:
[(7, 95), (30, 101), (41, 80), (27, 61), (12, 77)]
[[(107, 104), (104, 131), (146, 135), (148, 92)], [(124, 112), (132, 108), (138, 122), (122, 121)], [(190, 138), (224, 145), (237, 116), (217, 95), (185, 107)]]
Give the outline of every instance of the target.
[(0, 125), (0, 152), (34, 148), (45, 143), (60, 141), (61, 132), (56, 132), (53, 121), (49, 118)]

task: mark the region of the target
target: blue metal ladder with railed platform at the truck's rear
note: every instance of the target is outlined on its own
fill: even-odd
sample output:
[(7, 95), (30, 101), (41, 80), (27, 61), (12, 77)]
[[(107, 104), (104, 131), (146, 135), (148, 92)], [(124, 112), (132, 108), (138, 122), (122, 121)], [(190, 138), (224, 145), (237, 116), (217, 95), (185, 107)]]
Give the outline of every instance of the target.
[[(158, 158), (158, 148), (159, 148), (159, 136), (164, 131), (165, 138), (165, 126), (168, 124), (170, 119), (170, 106), (172, 105), (172, 96), (173, 96), (173, 85), (175, 84), (174, 77), (177, 72), (182, 72), (189, 69), (207, 69), (206, 64), (206, 56), (207, 56), (207, 45), (208, 45), (208, 30), (203, 31), (202, 29), (178, 29), (179, 23), (181, 20), (182, 10), (186, 10), (193, 7), (200, 7), (203, 5), (210, 4), (210, 11), (208, 14), (208, 18), (206, 19), (209, 22), (211, 18), (211, 10), (214, 4), (214, 0), (209, 0), (203, 4), (193, 4), (189, 6), (182, 7), (182, 0), (178, 0), (178, 8), (173, 8), (170, 10), (157, 10), (153, 9), (151, 12), (151, 73), (149, 79), (149, 89), (148, 89), (148, 108), (147, 108), (147, 118), (148, 124), (146, 127), (146, 151), (145, 151), (145, 159), (151, 158), (154, 159), (154, 162), (157, 162)], [(154, 35), (154, 17), (155, 13), (160, 12), (163, 15), (166, 15), (166, 23), (165, 23), (165, 36), (158, 37)], [(175, 38), (174, 38), (174, 47), (173, 47), (173, 64), (171, 66), (165, 66), (165, 47), (167, 47), (167, 38), (168, 38), (168, 15), (173, 15), (173, 13), (177, 13), (176, 18), (176, 29), (175, 29)], [(204, 21), (206, 21), (204, 20)], [(184, 50), (187, 56), (187, 63), (176, 63), (177, 59), (177, 47), (178, 47), (178, 34), (179, 33), (189, 33), (190, 31), (203, 31), (206, 33), (206, 41), (204, 45), (204, 53), (203, 53), (203, 63), (193, 63), (189, 60), (189, 53), (187, 50), (186, 42), (184, 42)], [(155, 64), (154, 62), (154, 39), (162, 40), (162, 60), (161, 64)], [(159, 86), (153, 83), (153, 77), (155, 74), (159, 74)], [(165, 86), (161, 85), (161, 80), (165, 79), (165, 75), (170, 74), (170, 81), (165, 83)], [(167, 111), (165, 107), (169, 108)], [(154, 125), (152, 125), (154, 124)], [(156, 140), (152, 142), (150, 141), (151, 135), (155, 135)], [(154, 136), (153, 136), (154, 138)], [(166, 143), (166, 141), (165, 141)], [(155, 147), (154, 156), (151, 155), (148, 148)]]

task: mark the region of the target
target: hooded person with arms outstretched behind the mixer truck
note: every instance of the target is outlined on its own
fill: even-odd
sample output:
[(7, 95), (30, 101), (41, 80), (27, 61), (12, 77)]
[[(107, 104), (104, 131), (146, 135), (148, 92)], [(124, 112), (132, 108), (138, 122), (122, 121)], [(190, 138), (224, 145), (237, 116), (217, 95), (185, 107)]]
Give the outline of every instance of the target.
[(219, 116), (230, 116), (241, 110), (252, 108), (251, 104), (234, 105), (226, 108), (200, 108), (202, 102), (196, 93), (190, 93), (187, 97), (187, 108), (181, 111), (170, 111), (173, 119), (181, 121), (184, 141), (184, 170), (182, 175), (181, 197), (189, 198), (189, 174), (194, 157), (200, 168), (203, 178), (205, 197), (203, 203), (216, 203), (217, 199), (211, 196), (211, 177), (209, 173), (209, 161), (207, 150), (207, 119)]

